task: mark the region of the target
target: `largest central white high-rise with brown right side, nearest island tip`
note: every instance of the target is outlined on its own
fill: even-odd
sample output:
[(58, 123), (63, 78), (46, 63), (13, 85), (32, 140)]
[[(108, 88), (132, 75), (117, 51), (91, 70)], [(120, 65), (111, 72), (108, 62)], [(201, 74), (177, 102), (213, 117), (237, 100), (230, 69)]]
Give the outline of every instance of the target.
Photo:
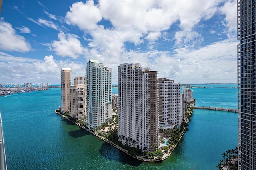
[(118, 135), (123, 145), (155, 151), (159, 146), (158, 73), (141, 64), (118, 66)]

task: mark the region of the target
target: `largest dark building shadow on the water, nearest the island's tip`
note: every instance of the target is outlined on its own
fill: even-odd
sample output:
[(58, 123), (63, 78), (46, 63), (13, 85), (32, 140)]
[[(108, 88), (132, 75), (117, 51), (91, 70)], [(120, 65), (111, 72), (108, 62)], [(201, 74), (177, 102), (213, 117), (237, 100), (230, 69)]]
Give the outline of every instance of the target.
[(106, 142), (101, 145), (99, 152), (104, 158), (107, 158), (109, 160), (116, 160), (118, 162), (121, 162), (122, 164), (139, 166), (142, 163), (142, 161), (132, 158), (132, 156), (116, 149), (115, 147)]

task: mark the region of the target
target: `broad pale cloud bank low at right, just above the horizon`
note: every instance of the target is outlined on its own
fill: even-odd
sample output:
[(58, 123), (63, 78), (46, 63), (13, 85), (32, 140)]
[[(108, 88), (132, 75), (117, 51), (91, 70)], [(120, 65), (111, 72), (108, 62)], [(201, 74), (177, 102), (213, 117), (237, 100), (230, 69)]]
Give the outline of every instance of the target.
[(220, 41), (197, 50), (181, 48), (175, 54), (162, 52), (154, 65), (159, 76), (182, 83), (234, 83), (237, 76), (236, 45), (236, 41)]

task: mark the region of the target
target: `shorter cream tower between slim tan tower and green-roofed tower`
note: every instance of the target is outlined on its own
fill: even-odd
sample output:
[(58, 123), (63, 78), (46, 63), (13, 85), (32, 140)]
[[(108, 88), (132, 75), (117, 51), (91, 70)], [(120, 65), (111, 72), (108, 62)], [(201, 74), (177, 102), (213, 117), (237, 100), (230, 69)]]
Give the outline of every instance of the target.
[(83, 120), (86, 116), (86, 85), (70, 86), (70, 117)]

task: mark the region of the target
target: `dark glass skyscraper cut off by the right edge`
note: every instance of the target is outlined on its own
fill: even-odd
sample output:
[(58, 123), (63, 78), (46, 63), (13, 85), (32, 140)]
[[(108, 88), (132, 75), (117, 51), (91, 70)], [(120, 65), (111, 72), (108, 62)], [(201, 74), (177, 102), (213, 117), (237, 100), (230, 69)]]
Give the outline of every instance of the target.
[(256, 169), (256, 0), (238, 0), (238, 169)]

